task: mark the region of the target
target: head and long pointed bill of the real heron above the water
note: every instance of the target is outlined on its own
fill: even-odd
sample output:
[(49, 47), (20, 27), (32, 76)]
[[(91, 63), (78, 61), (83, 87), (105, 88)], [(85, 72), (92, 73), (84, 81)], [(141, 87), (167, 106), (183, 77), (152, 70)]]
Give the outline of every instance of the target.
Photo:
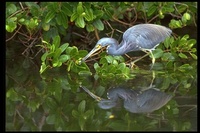
[(115, 44), (115, 43), (118, 43), (118, 42), (117, 42), (117, 40), (115, 40), (113, 38), (108, 38), (108, 37), (101, 38), (96, 43), (95, 47), (81, 60), (81, 62), (85, 61), (88, 57), (90, 57), (92, 54), (94, 54), (95, 52), (97, 52), (101, 48), (108, 46), (108, 45)]

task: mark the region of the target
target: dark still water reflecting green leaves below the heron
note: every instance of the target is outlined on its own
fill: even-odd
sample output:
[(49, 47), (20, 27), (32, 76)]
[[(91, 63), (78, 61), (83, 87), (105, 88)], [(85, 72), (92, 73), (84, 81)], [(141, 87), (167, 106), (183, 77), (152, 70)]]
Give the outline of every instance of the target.
[[(17, 66), (8, 67), (13, 73), (6, 77), (7, 131), (197, 131), (196, 68), (189, 72), (134, 70), (133, 79), (122, 81), (95, 80), (93, 76), (67, 73), (65, 68), (40, 76), (38, 68)], [(120, 97), (123, 92), (118, 94), (119, 104), (102, 109), (80, 85), (102, 99), (108, 99), (107, 92), (116, 87), (138, 94), (153, 87), (171, 97), (161, 107), (151, 107), (155, 110), (148, 112), (146, 108), (144, 112), (132, 113), (127, 108), (133, 108), (134, 101), (125, 108), (125, 95)], [(149, 101), (138, 106), (152, 104), (159, 95), (155, 94), (151, 93)], [(164, 95), (157, 99), (163, 100)]]

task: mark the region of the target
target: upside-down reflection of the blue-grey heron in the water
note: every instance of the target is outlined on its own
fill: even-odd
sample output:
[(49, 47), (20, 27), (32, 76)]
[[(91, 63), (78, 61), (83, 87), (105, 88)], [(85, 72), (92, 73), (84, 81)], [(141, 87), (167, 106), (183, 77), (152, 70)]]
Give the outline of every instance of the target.
[(132, 113), (150, 113), (163, 107), (172, 95), (150, 88), (145, 91), (124, 89), (121, 87), (112, 88), (108, 91), (108, 99), (103, 99), (81, 86), (90, 96), (98, 101), (98, 106), (102, 109), (111, 109), (118, 105), (120, 99), (123, 100), (124, 108)]

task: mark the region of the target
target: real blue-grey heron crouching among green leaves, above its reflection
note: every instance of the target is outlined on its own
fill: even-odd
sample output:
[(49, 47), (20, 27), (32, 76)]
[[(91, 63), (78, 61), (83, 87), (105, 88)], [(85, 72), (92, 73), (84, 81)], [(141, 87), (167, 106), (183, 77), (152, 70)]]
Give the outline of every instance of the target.
[(149, 51), (152, 55), (152, 66), (154, 65), (155, 58), (152, 54), (159, 43), (164, 41), (171, 35), (172, 31), (164, 26), (156, 24), (138, 24), (127, 29), (123, 34), (123, 39), (119, 44), (114, 38), (104, 37), (101, 38), (95, 47), (82, 59), (85, 61), (93, 53), (107, 47), (107, 53), (110, 55), (123, 55), (131, 51)]

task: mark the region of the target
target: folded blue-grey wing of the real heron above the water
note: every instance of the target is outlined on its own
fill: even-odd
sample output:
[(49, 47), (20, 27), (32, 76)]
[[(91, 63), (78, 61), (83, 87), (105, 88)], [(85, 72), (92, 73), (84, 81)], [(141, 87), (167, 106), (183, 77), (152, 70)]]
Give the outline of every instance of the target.
[[(170, 36), (171, 30), (155, 24), (139, 24), (126, 30), (123, 34), (123, 41), (128, 47), (139, 47), (152, 49), (166, 37)], [(133, 49), (134, 51), (134, 49)]]

